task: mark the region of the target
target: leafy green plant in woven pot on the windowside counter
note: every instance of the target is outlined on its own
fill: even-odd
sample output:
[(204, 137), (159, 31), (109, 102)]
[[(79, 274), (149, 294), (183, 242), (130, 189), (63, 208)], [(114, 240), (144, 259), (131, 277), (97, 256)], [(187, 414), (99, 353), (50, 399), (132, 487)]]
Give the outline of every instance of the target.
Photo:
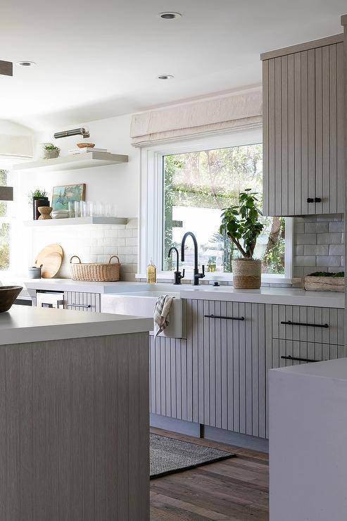
[(239, 204), (225, 208), (220, 234), (227, 235), (241, 253), (232, 260), (233, 284), (238, 289), (258, 289), (261, 285), (261, 261), (253, 258), (255, 244), (264, 225), (259, 221), (257, 195), (247, 188), (239, 195)]

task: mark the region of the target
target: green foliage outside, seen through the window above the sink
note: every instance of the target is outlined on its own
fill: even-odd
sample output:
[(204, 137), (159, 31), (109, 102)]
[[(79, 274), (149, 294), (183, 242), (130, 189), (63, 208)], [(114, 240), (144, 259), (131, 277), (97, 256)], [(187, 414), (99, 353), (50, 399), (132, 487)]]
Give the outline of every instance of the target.
[[(164, 179), (164, 269), (171, 270), (166, 262), (172, 246), (172, 208), (191, 206), (198, 208), (223, 208), (234, 206), (240, 192), (252, 187), (253, 192), (263, 192), (263, 147), (261, 144), (233, 146), (181, 153), (163, 158)], [(261, 201), (260, 201), (261, 203)], [(263, 272), (284, 273), (284, 219), (260, 218), (269, 232), (263, 255)], [(231, 271), (232, 258), (240, 256), (236, 245), (219, 230), (210, 238), (216, 248), (223, 251), (222, 266)], [(175, 244), (175, 246), (178, 246)]]

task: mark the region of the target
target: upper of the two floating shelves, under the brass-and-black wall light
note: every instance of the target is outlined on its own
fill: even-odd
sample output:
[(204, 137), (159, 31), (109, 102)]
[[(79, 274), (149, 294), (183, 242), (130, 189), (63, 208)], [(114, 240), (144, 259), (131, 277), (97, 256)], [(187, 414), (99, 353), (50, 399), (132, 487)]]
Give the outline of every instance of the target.
[(96, 166), (118, 165), (127, 163), (128, 156), (119, 153), (86, 152), (71, 156), (62, 156), (54, 159), (39, 159), (13, 165), (13, 170), (28, 170), (30, 168), (44, 168), (44, 170), (76, 170), (77, 168), (92, 168)]

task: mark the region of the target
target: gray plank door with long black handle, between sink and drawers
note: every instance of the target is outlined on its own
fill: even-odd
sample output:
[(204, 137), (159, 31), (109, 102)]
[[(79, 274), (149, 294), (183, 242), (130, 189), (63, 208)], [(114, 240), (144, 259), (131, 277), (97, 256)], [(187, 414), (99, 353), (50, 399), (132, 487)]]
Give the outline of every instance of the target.
[(203, 301), (203, 320), (200, 422), (265, 437), (265, 306)]

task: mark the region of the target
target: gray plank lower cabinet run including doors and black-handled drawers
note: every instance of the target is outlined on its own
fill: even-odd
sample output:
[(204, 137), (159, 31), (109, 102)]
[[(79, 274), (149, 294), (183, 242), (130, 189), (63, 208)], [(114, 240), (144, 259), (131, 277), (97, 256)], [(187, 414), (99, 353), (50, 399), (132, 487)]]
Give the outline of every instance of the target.
[(189, 299), (185, 313), (187, 339), (151, 337), (154, 414), (267, 438), (268, 371), (346, 356), (343, 310)]

